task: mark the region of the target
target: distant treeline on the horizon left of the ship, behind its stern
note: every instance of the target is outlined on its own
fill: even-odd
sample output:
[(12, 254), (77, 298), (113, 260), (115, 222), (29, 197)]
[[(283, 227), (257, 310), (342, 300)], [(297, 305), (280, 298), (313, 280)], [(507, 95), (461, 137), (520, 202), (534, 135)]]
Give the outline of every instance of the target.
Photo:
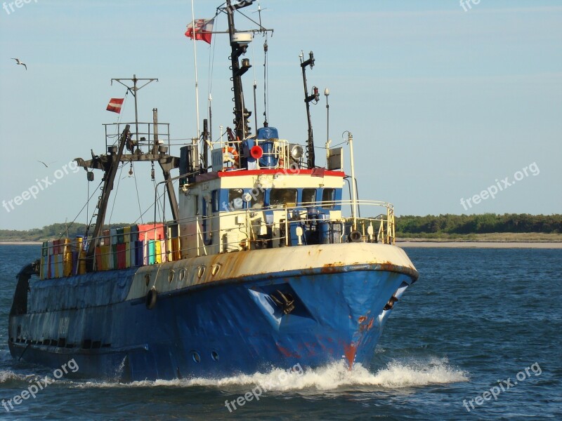
[[(104, 229), (115, 227), (127, 227), (131, 224), (110, 224)], [(90, 229), (90, 232), (93, 227)], [(16, 229), (0, 229), (0, 241), (47, 241), (59, 238), (73, 238), (77, 235), (86, 233), (86, 224), (51, 224), (43, 228), (28, 229), (27, 231), (18, 231)]]

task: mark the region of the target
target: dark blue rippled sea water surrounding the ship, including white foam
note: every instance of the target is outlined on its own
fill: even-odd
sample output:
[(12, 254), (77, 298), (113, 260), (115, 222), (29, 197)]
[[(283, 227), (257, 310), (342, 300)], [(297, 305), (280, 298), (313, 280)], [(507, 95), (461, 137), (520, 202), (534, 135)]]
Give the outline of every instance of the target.
[[(6, 420), (561, 419), (561, 250), (406, 251), (421, 276), (396, 305), (368, 368), (349, 372), (333, 364), (316, 370), (296, 367), (287, 373), (289, 367), (284, 367), (220, 379), (129, 385), (62, 378), (9, 413), (0, 406), (0, 416)], [(11, 359), (6, 343), (15, 274), (39, 252), (39, 246), (0, 245), (4, 291), (0, 295), (0, 399), (13, 399), (46, 375), (53, 378), (53, 370)], [(235, 402), (233, 409), (230, 402), (244, 394), (251, 400), (242, 397), (244, 405)]]

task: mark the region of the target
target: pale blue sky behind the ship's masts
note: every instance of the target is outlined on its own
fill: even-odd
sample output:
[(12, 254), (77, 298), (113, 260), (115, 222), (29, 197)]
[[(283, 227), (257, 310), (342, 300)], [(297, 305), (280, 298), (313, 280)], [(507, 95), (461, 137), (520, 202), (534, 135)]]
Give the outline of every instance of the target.
[[(139, 119), (152, 121), (156, 107), (175, 145), (197, 136), (194, 51), (184, 36), (191, 4), (25, 1), (0, 1), (0, 229), (86, 223), (100, 173), (88, 185), (69, 165), (104, 152), (103, 123), (134, 121), (131, 95), (122, 114), (105, 110), (125, 93), (112, 78), (158, 78), (139, 91)], [(327, 138), (333, 147), (353, 133), (360, 199), (389, 201), (397, 215), (562, 213), (562, 2), (463, 1), (260, 0), (263, 26), (274, 29), (270, 126), (306, 142), (299, 54), (313, 51), (309, 89), (330, 92), (329, 133), (325, 96), (311, 108), (317, 164)], [(244, 9), (254, 20), (257, 4)], [(195, 18), (219, 5), (195, 0)], [(236, 26), (255, 28), (243, 16)], [(224, 15), (215, 29), (226, 30)], [(264, 40), (251, 43), (243, 76), (249, 109), (258, 83), (260, 122)], [(228, 50), (224, 34), (197, 42), (200, 119), (210, 93), (215, 139), (232, 126)], [(110, 222), (138, 220), (153, 201), (150, 164), (136, 165), (134, 178), (128, 170), (118, 174)]]

